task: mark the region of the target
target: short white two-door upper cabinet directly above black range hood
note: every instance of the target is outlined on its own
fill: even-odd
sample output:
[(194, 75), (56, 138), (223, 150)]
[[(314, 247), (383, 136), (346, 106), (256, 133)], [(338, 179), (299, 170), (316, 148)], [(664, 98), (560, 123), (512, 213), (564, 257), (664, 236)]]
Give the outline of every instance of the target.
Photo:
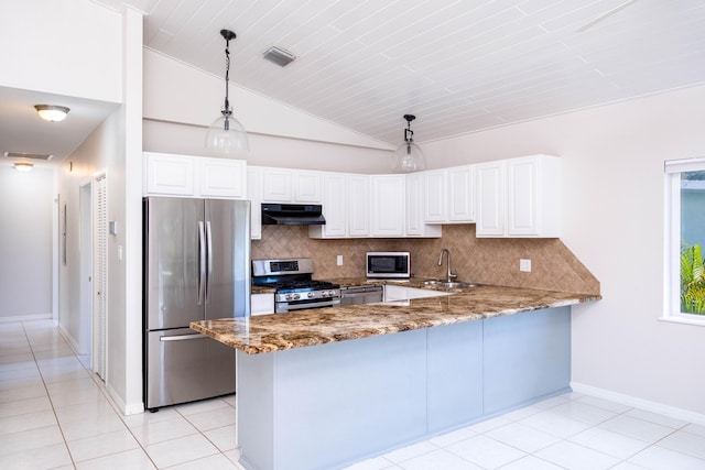
[(262, 167), (262, 203), (321, 204), (323, 172)]

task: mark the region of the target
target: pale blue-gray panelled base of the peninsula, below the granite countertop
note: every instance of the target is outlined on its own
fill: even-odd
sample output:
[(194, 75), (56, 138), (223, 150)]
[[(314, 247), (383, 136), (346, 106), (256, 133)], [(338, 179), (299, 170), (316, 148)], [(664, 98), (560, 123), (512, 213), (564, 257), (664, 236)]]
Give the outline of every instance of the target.
[(571, 308), (237, 361), (240, 463), (335, 469), (570, 391)]

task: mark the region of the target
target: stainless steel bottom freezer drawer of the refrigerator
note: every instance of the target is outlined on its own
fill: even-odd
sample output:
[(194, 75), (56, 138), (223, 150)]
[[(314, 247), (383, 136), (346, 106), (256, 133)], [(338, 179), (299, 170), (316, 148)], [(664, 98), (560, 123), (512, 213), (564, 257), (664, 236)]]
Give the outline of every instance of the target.
[(189, 328), (147, 336), (148, 409), (235, 393), (235, 349)]

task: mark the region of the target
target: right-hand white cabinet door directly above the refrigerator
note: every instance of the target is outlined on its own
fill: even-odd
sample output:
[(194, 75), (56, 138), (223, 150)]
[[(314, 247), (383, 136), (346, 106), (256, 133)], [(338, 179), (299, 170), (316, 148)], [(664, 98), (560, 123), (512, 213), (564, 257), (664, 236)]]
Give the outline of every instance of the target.
[(200, 197), (245, 199), (247, 187), (243, 160), (197, 157)]

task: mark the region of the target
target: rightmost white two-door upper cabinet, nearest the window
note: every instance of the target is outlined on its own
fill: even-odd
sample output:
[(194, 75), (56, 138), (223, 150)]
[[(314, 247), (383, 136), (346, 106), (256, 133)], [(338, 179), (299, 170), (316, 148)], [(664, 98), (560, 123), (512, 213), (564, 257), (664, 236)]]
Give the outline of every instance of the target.
[(560, 167), (551, 155), (477, 165), (477, 237), (560, 237)]

